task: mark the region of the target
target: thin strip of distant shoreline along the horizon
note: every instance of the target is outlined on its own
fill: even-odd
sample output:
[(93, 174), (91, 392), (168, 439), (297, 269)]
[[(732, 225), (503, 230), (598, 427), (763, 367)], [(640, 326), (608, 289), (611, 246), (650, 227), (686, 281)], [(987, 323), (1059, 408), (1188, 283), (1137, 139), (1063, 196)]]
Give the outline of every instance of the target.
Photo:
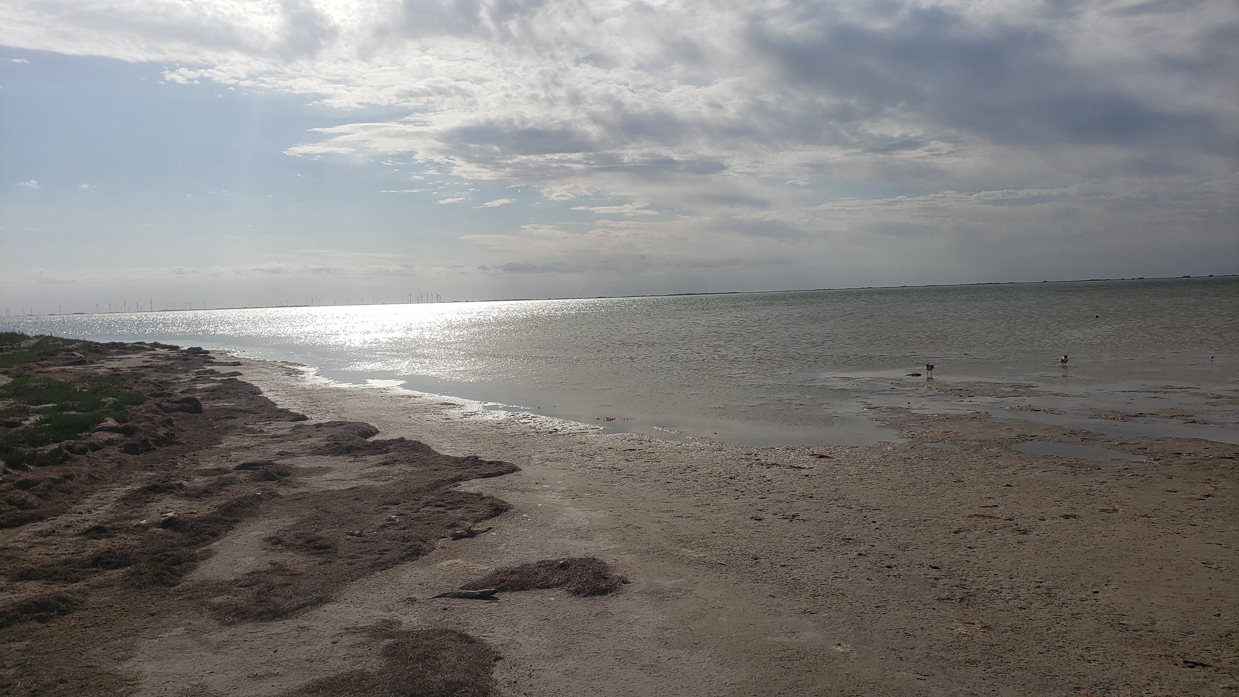
[(228, 308), (187, 308), (164, 310), (121, 310), (112, 313), (46, 313), (41, 315), (11, 315), (4, 319), (17, 317), (58, 317), (58, 316), (85, 316), (85, 315), (149, 315), (155, 313), (203, 313), (216, 310), (270, 310), (275, 308), (375, 308), (380, 305), (455, 305), (463, 303), (530, 303), (546, 300), (622, 300), (626, 298), (681, 298), (690, 295), (760, 295), (767, 293), (823, 293), (829, 290), (895, 290), (916, 288), (969, 288), (974, 285), (1041, 285), (1043, 283), (1104, 283), (1113, 280), (1180, 280), (1184, 278), (1239, 278), (1239, 274), (1206, 274), (1206, 275), (1165, 275), (1165, 277), (1134, 277), (1134, 278), (1077, 278), (1067, 280), (987, 280), (979, 283), (927, 283), (924, 285), (849, 285), (843, 288), (784, 288), (778, 290), (710, 290), (700, 293), (653, 293), (636, 295), (565, 295), (561, 298), (489, 298), (486, 300), (445, 300), (440, 303), (354, 303), (346, 305), (232, 305)]

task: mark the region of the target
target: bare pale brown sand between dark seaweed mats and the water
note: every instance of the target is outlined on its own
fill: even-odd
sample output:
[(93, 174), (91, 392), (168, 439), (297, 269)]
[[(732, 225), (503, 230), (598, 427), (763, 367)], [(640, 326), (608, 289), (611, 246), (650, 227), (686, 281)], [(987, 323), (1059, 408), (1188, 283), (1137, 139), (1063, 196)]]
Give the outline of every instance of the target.
[[(116, 662), (108, 668), (124, 676), (121, 693), (274, 696), (379, 670), (374, 630), (357, 629), (375, 626), (481, 640), (502, 656), (493, 680), (504, 695), (1229, 695), (1239, 687), (1234, 445), (1115, 442), (1027, 420), (1017, 409), (997, 418), (893, 404), (871, 413), (903, 443), (664, 442), (440, 396), (344, 387), (297, 366), (235, 362), (219, 370), (242, 373), (237, 380), (274, 407), (310, 420), (235, 433), (196, 455), (202, 469), (261, 456), (297, 473), (285, 497), (343, 497), (369, 486), (382, 499), (374, 485), (392, 477), (383, 455), (289, 445), (296, 428), (361, 422), (379, 432), (369, 440), (406, 438), (518, 466), (451, 489), (507, 510), (476, 537), (445, 536), (411, 561), (344, 574), (330, 599), (287, 616), (159, 611), (123, 633), (126, 647), (98, 659)], [(968, 393), (995, 389), (1030, 388)], [(212, 404), (203, 406), (209, 413)], [(1030, 440), (1145, 460), (1011, 448)], [(0, 531), (0, 542), (30, 544), (48, 526), (66, 527), (64, 516), (85, 526), (99, 510), (99, 499), (82, 501), (61, 522)], [(239, 520), (207, 546), (208, 558), (182, 587), (237, 585), (280, 562), (284, 552), (268, 538), (299, 518), (270, 511), (275, 517)], [(631, 583), (605, 597), (546, 589), (498, 602), (432, 598), (497, 567), (559, 557), (596, 557)], [(32, 592), (17, 583), (5, 590)]]

